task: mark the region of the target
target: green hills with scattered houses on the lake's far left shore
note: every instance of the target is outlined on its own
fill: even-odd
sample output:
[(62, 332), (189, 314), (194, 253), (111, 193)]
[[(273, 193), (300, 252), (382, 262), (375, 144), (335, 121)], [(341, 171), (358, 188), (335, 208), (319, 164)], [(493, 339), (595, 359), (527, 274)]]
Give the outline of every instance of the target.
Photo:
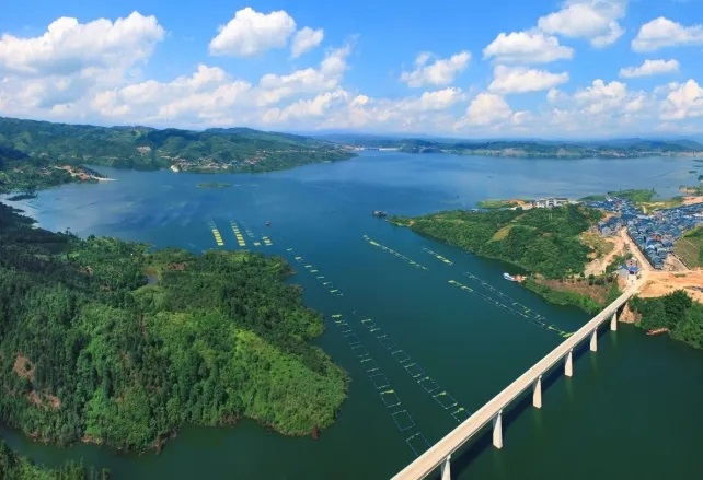
[[(177, 164), (181, 169), (198, 172), (269, 172), (352, 155), (330, 142), (247, 128), (205, 131), (106, 128), (0, 117), (0, 171), (5, 174), (5, 160), (13, 161), (14, 167), (21, 163), (36, 168), (92, 164), (158, 169)], [(30, 178), (27, 174), (24, 178), (30, 185), (47, 183), (34, 188), (58, 183)], [(64, 178), (70, 180), (70, 177)], [(0, 180), (13, 182), (12, 178)], [(26, 189), (26, 185), (13, 185), (16, 190)]]

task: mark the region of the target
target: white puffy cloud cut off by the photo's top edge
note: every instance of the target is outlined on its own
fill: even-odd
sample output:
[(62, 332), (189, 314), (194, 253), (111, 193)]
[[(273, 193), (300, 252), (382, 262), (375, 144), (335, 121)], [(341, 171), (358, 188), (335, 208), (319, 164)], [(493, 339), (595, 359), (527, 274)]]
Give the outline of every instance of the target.
[(626, 7), (627, 0), (567, 0), (562, 10), (542, 16), (538, 26), (549, 34), (587, 38), (592, 46), (604, 47), (625, 32), (619, 20)]

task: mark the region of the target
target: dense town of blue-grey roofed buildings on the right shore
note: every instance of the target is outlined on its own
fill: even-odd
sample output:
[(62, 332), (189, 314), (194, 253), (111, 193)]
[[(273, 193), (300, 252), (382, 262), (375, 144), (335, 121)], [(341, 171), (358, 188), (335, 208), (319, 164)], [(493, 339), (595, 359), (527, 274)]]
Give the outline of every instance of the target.
[(701, 203), (657, 210), (652, 215), (643, 214), (630, 200), (622, 198), (587, 201), (584, 204), (613, 213), (598, 223), (600, 234), (611, 236), (621, 227), (627, 227), (630, 238), (656, 269), (664, 269), (673, 251), (673, 243), (685, 231), (703, 225)]

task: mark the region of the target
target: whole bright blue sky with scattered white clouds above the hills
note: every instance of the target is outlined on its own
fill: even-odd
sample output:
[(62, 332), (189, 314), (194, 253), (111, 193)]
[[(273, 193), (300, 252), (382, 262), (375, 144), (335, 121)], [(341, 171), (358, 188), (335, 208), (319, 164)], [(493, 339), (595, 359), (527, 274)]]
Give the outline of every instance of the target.
[(466, 138), (703, 132), (703, 0), (2, 2), (2, 116)]

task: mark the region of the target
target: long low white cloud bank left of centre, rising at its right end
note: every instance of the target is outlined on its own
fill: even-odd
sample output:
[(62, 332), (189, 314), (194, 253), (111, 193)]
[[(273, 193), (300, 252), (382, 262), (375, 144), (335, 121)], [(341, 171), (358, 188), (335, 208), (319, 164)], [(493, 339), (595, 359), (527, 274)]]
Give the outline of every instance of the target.
[(91, 108), (115, 120), (140, 118), (154, 124), (261, 125), (314, 118), (346, 98), (339, 83), (349, 51), (348, 46), (337, 48), (316, 69), (267, 73), (256, 84), (219, 67), (200, 65), (193, 74), (170, 82), (149, 80), (101, 91), (93, 96)]

